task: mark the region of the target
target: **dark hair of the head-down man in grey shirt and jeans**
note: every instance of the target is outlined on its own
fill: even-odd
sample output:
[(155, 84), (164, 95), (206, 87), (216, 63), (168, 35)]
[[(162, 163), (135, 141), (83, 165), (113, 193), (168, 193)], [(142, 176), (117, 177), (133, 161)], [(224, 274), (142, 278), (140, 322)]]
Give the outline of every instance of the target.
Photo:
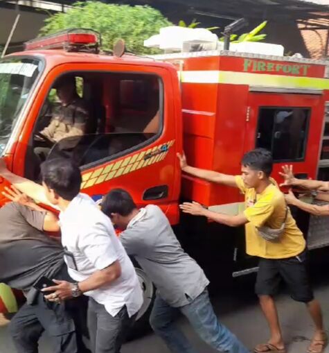
[(111, 214), (120, 214), (128, 216), (137, 206), (129, 192), (124, 189), (113, 189), (104, 196), (102, 201), (102, 211), (107, 216)]

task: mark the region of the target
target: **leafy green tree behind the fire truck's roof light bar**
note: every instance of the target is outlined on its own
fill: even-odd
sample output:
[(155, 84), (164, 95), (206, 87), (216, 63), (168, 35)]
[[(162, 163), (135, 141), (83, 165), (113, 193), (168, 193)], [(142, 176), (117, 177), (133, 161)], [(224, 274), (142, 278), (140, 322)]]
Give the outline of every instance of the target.
[(125, 40), (127, 51), (137, 54), (158, 53), (145, 48), (143, 41), (158, 34), (159, 29), (172, 23), (150, 6), (128, 6), (78, 1), (66, 13), (58, 12), (45, 20), (40, 35), (67, 28), (91, 28), (102, 35), (103, 50), (112, 50), (118, 39)]

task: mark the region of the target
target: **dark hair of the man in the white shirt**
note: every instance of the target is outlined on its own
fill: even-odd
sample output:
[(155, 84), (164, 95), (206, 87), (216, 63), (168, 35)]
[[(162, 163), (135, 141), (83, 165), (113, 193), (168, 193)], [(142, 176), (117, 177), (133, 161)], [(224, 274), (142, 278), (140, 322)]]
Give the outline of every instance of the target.
[(64, 200), (71, 201), (81, 188), (81, 171), (72, 160), (53, 158), (41, 164), (42, 181)]

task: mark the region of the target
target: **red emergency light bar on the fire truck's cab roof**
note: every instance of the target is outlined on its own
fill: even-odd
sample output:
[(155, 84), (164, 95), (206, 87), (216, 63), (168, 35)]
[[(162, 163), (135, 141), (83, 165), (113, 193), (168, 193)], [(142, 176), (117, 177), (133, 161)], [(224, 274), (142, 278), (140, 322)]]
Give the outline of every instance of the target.
[(100, 33), (91, 29), (72, 28), (25, 43), (25, 50), (63, 49), (65, 51), (99, 52)]

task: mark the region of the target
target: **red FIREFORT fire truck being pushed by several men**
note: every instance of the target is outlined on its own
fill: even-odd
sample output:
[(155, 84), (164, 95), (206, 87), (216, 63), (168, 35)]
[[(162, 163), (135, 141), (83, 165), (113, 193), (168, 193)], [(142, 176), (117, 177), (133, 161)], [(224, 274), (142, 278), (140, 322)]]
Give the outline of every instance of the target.
[[(177, 152), (184, 149), (193, 166), (238, 174), (242, 155), (264, 147), (273, 153), (276, 179), (286, 163), (300, 178), (329, 178), (328, 62), (230, 51), (109, 55), (99, 51), (96, 33), (73, 30), (28, 42), (26, 51), (0, 61), (0, 153), (14, 173), (38, 179), (35, 136), (58, 104), (55, 80), (66, 75), (88, 103), (89, 121), (74, 148), (60, 141), (48, 157), (72, 157), (82, 170), (82, 192), (96, 201), (123, 187), (139, 206), (159, 205), (179, 225), (190, 255), (206, 254), (200, 264), (217, 268), (217, 278), (256, 270), (244, 252), (243, 229), (180, 221), (179, 200), (235, 214), (242, 196), (181, 175)], [(6, 185), (1, 178), (0, 191)], [(308, 246), (328, 246), (328, 219), (305, 219)], [(153, 287), (139, 275), (143, 316)], [(0, 311), (15, 309), (11, 291), (0, 290)]]

